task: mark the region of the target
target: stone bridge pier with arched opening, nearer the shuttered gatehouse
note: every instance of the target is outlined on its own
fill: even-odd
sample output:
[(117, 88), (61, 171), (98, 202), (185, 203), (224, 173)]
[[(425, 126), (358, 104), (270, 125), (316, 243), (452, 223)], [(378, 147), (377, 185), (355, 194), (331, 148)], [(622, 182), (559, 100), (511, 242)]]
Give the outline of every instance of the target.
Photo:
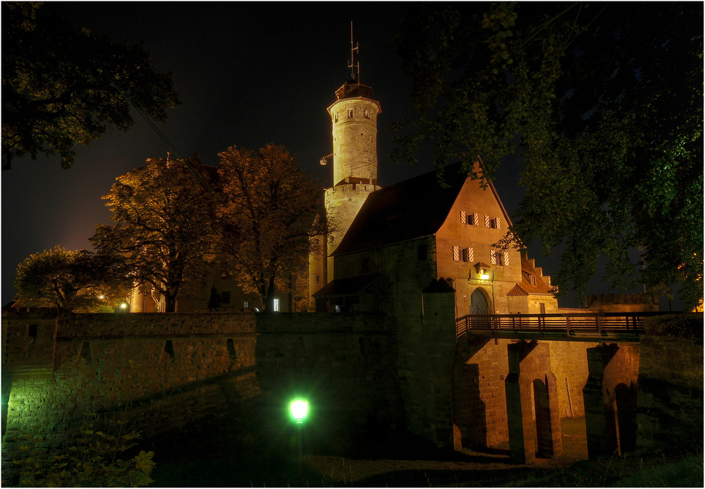
[[(509, 344), (507, 421), (510, 457), (525, 464), (563, 452), (558, 409), (558, 384), (551, 371), (547, 343)], [(535, 421), (534, 421), (535, 420)]]

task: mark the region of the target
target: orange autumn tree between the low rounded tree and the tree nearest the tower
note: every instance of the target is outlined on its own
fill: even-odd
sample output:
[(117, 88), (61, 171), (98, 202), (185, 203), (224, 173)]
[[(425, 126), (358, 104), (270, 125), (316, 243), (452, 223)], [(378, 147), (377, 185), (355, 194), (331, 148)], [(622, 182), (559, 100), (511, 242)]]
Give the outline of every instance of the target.
[(114, 226), (98, 224), (90, 239), (119, 260), (137, 286), (148, 286), (166, 312), (179, 294), (200, 287), (216, 243), (216, 199), (210, 172), (196, 159), (147, 159), (119, 176), (106, 206)]

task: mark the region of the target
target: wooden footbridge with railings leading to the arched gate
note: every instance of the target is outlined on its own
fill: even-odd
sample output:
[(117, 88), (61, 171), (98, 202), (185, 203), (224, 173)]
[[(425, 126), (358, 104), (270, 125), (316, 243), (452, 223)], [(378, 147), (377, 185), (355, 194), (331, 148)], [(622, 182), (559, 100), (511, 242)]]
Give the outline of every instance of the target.
[(644, 319), (663, 314), (469, 314), (455, 320), (455, 336), (638, 343)]

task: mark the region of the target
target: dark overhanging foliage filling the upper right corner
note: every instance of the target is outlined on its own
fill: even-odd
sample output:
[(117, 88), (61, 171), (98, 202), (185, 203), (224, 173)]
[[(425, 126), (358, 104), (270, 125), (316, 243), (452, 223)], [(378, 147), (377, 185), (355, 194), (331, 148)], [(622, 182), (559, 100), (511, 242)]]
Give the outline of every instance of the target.
[[(564, 246), (559, 285), (605, 279), (703, 296), (703, 5), (416, 5), (397, 37), (415, 120), (393, 159), (477, 157), (492, 178), (520, 147), (525, 195), (501, 243)], [(475, 175), (477, 176), (477, 175)], [(521, 236), (521, 240), (518, 236)], [(639, 262), (630, 261), (639, 250)]]

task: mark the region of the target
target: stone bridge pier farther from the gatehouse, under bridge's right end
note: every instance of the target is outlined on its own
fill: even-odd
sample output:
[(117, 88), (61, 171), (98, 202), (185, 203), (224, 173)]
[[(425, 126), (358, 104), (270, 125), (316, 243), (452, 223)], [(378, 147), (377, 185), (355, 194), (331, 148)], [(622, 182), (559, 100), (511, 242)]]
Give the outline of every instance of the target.
[(589, 458), (637, 442), (639, 345), (599, 344), (587, 349), (588, 380), (583, 388)]

